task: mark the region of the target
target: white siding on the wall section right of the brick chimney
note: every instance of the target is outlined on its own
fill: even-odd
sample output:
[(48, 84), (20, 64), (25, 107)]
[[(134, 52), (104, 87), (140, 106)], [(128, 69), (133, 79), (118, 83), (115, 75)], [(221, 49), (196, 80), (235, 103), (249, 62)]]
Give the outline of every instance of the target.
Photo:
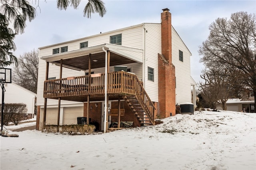
[[(183, 62), (179, 60), (179, 50), (183, 51)], [(190, 51), (172, 28), (172, 63), (176, 76), (176, 103), (191, 102)]]

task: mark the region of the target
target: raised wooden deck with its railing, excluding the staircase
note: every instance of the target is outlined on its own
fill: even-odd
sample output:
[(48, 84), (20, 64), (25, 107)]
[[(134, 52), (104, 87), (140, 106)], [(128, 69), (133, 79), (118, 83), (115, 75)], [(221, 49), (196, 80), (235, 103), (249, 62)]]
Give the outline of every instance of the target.
[[(94, 77), (96, 76), (96, 77)], [(108, 73), (107, 93), (111, 99), (118, 95), (135, 95), (137, 77), (124, 71)], [(105, 94), (105, 74), (92, 74), (78, 77), (44, 81), (44, 98), (69, 101), (102, 101)], [(116, 96), (116, 97), (115, 97)]]

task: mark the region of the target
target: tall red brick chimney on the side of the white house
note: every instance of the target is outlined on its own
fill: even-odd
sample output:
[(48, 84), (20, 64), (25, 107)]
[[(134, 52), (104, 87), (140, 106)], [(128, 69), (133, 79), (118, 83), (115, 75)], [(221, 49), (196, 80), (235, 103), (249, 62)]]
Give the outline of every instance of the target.
[(176, 114), (176, 78), (172, 64), (172, 24), (168, 8), (161, 13), (162, 54), (158, 54), (158, 116)]

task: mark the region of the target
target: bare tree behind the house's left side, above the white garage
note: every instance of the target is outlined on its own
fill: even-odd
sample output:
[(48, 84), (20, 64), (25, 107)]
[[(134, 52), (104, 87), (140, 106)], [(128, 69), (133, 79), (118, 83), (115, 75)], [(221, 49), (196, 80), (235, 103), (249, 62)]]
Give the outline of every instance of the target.
[(36, 93), (38, 79), (38, 50), (33, 49), (18, 58), (18, 67), (12, 73), (14, 83)]

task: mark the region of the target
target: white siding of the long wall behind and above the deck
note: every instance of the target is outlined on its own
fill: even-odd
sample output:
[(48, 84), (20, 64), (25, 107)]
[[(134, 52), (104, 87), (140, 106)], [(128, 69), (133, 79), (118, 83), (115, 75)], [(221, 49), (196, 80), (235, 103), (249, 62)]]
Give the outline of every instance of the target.
[[(81, 42), (88, 41), (88, 47), (92, 47), (95, 45), (101, 45), (104, 43), (110, 42), (110, 36), (116, 35), (116, 34), (122, 34), (122, 45), (128, 46), (128, 47), (136, 47), (136, 48), (142, 48), (142, 25), (138, 25), (135, 27), (131, 27), (129, 29), (121, 29), (116, 30), (113, 32), (108, 32), (104, 34), (98, 34), (96, 36), (90, 36), (88, 38), (82, 38), (79, 40), (73, 40), (66, 43), (60, 43), (56, 45), (50, 45), (48, 47), (41, 47), (40, 48), (40, 58), (43, 56), (52, 55), (52, 49), (58, 48), (58, 47), (64, 47), (68, 45), (68, 51), (73, 51), (80, 48)], [(132, 52), (130, 52), (132, 54)], [(133, 64), (127, 64), (126, 66), (132, 67), (132, 72), (134, 72), (139, 79), (142, 79), (142, 64), (141, 63), (133, 63)], [(110, 70), (114, 70), (113, 67), (110, 67)], [(104, 68), (100, 69), (92, 69), (94, 73), (104, 73)], [(37, 97), (37, 105), (44, 105), (44, 98), (43, 98), (43, 88), (44, 88), (44, 81), (45, 81), (45, 73), (46, 73), (46, 62), (42, 59), (39, 59), (39, 67), (38, 67), (38, 97)], [(56, 77), (56, 79), (59, 78), (60, 75), (60, 67), (49, 64), (49, 75), (48, 77)], [(84, 75), (84, 71), (76, 71), (72, 69), (63, 68), (62, 70), (62, 77), (71, 77), (71, 76), (80, 76)], [(47, 99), (47, 105), (56, 105), (57, 100), (53, 99)], [(66, 104), (75, 104), (78, 102), (72, 102), (72, 101), (61, 101), (62, 105)]]

